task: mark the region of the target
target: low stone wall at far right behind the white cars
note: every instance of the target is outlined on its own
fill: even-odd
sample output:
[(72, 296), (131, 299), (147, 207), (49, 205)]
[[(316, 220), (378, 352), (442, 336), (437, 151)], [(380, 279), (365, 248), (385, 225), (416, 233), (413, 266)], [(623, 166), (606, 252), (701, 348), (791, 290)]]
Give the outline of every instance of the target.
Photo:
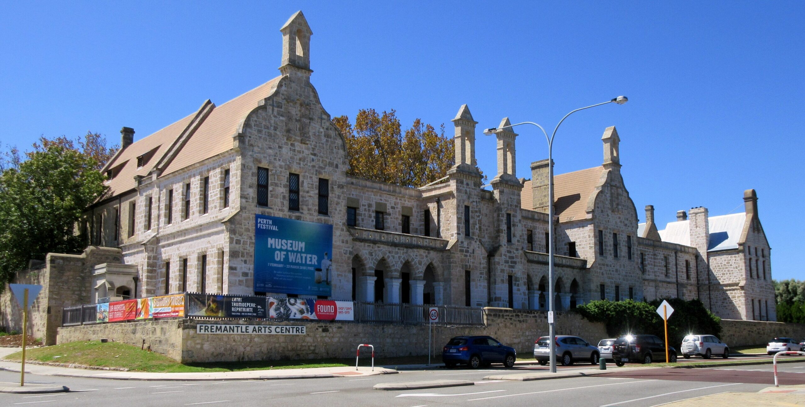
[[(704, 333), (704, 332), (703, 332)], [(805, 338), (805, 323), (721, 319), (721, 340), (729, 346), (763, 345), (774, 337)]]

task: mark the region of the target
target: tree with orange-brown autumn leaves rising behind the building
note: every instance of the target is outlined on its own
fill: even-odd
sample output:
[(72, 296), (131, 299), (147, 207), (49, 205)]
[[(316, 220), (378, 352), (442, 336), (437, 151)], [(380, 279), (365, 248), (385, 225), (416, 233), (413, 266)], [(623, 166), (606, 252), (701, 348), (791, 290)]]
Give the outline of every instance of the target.
[(444, 135), (444, 125), (415, 119), (403, 131), (396, 112), (378, 113), (361, 109), (354, 125), (349, 117), (332, 119), (347, 142), (347, 174), (406, 187), (422, 187), (447, 175), (453, 165), (452, 138)]

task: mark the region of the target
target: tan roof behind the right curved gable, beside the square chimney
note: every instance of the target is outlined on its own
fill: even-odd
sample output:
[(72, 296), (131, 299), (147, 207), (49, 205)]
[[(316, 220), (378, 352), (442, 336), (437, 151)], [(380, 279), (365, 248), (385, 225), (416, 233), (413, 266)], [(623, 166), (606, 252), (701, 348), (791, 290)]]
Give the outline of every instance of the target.
[[(554, 208), (559, 222), (587, 219), (587, 203), (605, 171), (603, 166), (554, 176)], [(522, 208), (533, 210), (531, 181), (520, 192)]]

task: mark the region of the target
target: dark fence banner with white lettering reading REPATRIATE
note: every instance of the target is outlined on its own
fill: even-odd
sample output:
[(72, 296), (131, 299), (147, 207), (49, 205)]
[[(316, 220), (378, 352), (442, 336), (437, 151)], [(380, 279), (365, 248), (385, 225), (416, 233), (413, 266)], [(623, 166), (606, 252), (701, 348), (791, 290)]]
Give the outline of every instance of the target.
[(221, 318), (266, 318), (266, 298), (188, 294), (186, 315)]

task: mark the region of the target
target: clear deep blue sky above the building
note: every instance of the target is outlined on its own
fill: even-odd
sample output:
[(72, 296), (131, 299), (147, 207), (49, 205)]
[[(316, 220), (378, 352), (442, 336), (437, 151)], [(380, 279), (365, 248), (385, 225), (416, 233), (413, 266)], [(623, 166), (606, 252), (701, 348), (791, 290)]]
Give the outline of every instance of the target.
[[(380, 4), (378, 4), (380, 3)], [(0, 142), (87, 130), (136, 139), (277, 76), (279, 27), (303, 10), (312, 82), (332, 116), (396, 109), (434, 125), (469, 104), (478, 128), (576, 113), (556, 171), (602, 161), (617, 125), (622, 172), (643, 220), (743, 211), (755, 188), (774, 277), (805, 278), (805, 2), (2, 2)], [(547, 156), (519, 129), (518, 176)], [(477, 158), (496, 171), (492, 138)]]

